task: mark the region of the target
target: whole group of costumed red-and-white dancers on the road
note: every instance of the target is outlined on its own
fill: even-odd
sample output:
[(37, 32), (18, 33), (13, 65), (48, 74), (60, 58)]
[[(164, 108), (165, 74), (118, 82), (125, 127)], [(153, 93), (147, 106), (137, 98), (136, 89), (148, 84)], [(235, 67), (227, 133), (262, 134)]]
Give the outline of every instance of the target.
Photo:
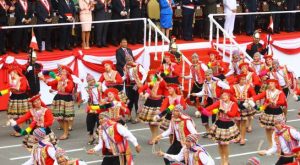
[[(255, 115), (259, 116), (269, 145), (269, 149), (258, 154), (278, 153), (278, 165), (300, 163), (300, 133), (286, 125), (287, 96), (291, 94), (296, 101), (300, 100), (300, 80), (271, 55), (256, 52), (253, 61), (247, 62), (235, 51), (229, 67), (218, 51), (211, 50), (207, 56), (209, 62), (205, 63), (198, 54), (192, 55), (189, 75), (181, 73), (182, 61), (176, 60), (173, 52), (166, 52), (161, 66), (148, 72), (130, 55), (125, 56), (123, 73), (115, 70), (112, 61), (103, 61), (105, 71), (99, 80), (91, 74), (86, 76), (88, 144), (97, 142), (87, 153), (102, 150), (103, 165), (133, 164), (129, 142), (136, 152), (141, 152), (141, 146), (126, 123), (143, 122), (150, 127), (149, 145), (169, 137), (166, 153), (155, 152), (164, 158), (166, 165), (173, 162), (214, 165), (212, 157), (198, 143), (201, 142), (195, 128), (198, 121), (186, 113), (191, 105), (205, 128), (202, 138), (218, 143), (222, 165), (229, 164), (230, 143), (246, 144), (246, 132), (252, 132)], [(25, 136), (23, 143), (32, 153), (25, 164), (84, 164), (78, 159), (67, 159), (63, 150), (57, 148), (57, 140), (68, 139), (73, 129), (74, 95), (79, 85), (74, 83), (72, 70), (60, 65), (54, 71), (42, 71), (42, 66), (37, 69), (32, 61), (23, 68), (15, 64), (4, 66), (9, 73), (11, 92), (7, 124), (14, 128), (12, 136)], [(37, 79), (56, 93), (51, 106), (42, 102), (38, 92), (28, 92), (32, 89), (25, 75), (32, 70)], [(192, 79), (190, 95), (181, 90), (182, 79)], [(133, 107), (136, 118), (132, 115)], [(51, 130), (54, 119), (63, 130), (59, 138)], [(22, 123), (26, 121), (30, 122), (24, 128)]]

